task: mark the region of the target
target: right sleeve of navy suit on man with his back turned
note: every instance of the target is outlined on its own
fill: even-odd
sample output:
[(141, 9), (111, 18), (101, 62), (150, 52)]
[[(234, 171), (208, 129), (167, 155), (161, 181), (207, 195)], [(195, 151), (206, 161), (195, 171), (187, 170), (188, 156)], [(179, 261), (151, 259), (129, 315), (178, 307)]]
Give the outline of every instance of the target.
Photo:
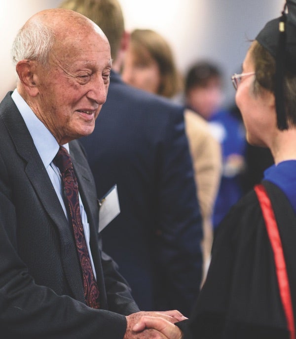
[(167, 299), (189, 315), (201, 282), (202, 225), (182, 108), (170, 116), (164, 140), (159, 152), (155, 255), (165, 275)]

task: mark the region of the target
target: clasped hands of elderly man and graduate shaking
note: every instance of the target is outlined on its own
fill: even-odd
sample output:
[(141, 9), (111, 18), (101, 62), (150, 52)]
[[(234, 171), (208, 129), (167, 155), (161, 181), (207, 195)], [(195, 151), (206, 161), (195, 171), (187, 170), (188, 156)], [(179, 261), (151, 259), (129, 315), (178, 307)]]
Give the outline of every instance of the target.
[(177, 310), (137, 312), (126, 316), (127, 327), (123, 339), (182, 339), (178, 321), (187, 319)]

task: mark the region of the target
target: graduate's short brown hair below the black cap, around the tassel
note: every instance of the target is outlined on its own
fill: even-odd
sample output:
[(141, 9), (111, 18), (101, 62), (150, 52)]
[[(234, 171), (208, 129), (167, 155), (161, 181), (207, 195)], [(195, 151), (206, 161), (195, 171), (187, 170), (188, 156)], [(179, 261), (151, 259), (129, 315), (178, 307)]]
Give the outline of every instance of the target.
[[(252, 43), (250, 53), (256, 72), (255, 95), (260, 94), (262, 88), (275, 94), (275, 59), (257, 40)], [(284, 76), (284, 95), (288, 125), (296, 125), (296, 75), (289, 69)]]

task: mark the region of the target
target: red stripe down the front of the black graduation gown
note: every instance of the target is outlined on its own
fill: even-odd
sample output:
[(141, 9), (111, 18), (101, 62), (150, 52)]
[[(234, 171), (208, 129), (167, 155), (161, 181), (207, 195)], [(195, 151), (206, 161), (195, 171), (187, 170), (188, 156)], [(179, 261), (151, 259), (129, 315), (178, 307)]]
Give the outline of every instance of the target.
[(289, 279), (287, 274), (282, 241), (277, 227), (275, 215), (264, 186), (262, 184), (259, 184), (256, 185), (254, 189), (261, 206), (267, 234), (273, 250), (280, 297), (284, 308), (285, 316), (287, 319), (288, 330), (290, 331), (290, 339), (296, 339), (294, 313), (292, 307)]

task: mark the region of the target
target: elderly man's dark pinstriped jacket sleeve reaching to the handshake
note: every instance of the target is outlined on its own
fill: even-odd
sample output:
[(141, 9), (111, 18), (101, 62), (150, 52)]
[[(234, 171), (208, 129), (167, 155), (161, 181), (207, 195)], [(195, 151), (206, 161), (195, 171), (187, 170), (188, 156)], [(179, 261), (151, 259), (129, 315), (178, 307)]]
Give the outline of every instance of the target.
[[(126, 330), (123, 315), (92, 309), (36, 284), (18, 255), (17, 232), (23, 224), (13, 203), (13, 186), (0, 157), (1, 335), (10, 339), (123, 338)], [(19, 191), (21, 199), (26, 199), (26, 194)]]

